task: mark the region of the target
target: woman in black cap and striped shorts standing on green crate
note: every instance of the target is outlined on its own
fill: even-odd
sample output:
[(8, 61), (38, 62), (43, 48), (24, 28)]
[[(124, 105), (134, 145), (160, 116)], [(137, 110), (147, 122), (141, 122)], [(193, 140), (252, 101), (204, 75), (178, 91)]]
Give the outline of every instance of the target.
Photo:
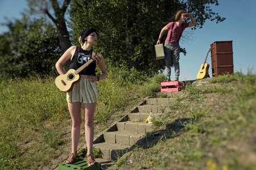
[[(75, 162), (77, 158), (77, 146), (80, 137), (80, 125), (81, 125), (81, 107), (85, 110), (85, 140), (87, 146), (87, 159), (88, 165), (95, 163), (93, 156), (93, 134), (94, 124), (93, 117), (96, 110), (96, 101), (98, 98), (98, 92), (95, 82), (106, 78), (106, 66), (104, 58), (101, 53), (94, 52), (92, 47), (97, 44), (97, 33), (94, 28), (86, 28), (79, 37), (79, 46), (71, 46), (67, 51), (59, 58), (56, 63), (56, 69), (59, 74), (65, 74), (63, 65), (70, 60), (68, 69), (78, 69), (81, 65), (88, 62), (92, 56), (98, 56), (100, 59), (96, 62), (93, 61), (88, 67), (82, 70), (80, 79), (73, 84), (72, 90), (67, 92), (67, 102), (69, 113), (72, 118), (72, 154), (69, 155), (65, 161), (70, 164)], [(101, 75), (96, 76), (96, 65), (100, 67)]]

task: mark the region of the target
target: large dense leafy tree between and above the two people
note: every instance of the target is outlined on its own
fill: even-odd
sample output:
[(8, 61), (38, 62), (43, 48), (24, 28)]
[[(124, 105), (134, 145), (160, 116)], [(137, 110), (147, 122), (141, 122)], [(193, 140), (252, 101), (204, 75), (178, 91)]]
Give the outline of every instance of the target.
[(193, 29), (203, 27), (206, 20), (222, 22), (210, 5), (218, 0), (97, 0), (71, 2), (73, 39), (77, 43), (82, 29), (98, 29), (101, 50), (112, 65), (122, 63), (139, 70), (156, 70), (163, 62), (154, 61), (154, 45), (160, 29), (170, 22), (179, 9), (192, 12), (197, 19)]

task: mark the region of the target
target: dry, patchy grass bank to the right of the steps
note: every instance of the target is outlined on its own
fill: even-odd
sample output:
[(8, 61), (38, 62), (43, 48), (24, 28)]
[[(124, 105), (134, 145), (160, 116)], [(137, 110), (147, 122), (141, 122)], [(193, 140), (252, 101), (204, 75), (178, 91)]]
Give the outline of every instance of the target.
[(110, 169), (256, 169), (256, 75), (189, 85), (157, 125), (172, 125), (148, 148)]

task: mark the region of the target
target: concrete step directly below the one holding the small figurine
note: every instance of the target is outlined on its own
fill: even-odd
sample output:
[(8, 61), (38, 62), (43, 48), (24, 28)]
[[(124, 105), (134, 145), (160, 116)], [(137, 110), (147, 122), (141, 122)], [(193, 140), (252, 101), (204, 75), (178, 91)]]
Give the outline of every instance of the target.
[(107, 143), (116, 143), (117, 145), (134, 145), (144, 134), (134, 134), (129, 131), (108, 131), (104, 133), (104, 139)]

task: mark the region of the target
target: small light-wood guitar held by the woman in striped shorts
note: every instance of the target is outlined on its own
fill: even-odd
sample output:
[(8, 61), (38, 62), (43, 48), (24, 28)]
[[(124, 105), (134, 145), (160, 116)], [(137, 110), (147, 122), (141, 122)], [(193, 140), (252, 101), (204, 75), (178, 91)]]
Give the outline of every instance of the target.
[(59, 88), (60, 91), (66, 92), (71, 90), (73, 83), (75, 83), (80, 78), (79, 73), (94, 60), (98, 59), (100, 59), (100, 56), (97, 56), (96, 53), (95, 56), (93, 56), (88, 62), (84, 63), (84, 65), (79, 67), (77, 70), (69, 69), (67, 73), (57, 76), (55, 79), (55, 85), (57, 88)]

